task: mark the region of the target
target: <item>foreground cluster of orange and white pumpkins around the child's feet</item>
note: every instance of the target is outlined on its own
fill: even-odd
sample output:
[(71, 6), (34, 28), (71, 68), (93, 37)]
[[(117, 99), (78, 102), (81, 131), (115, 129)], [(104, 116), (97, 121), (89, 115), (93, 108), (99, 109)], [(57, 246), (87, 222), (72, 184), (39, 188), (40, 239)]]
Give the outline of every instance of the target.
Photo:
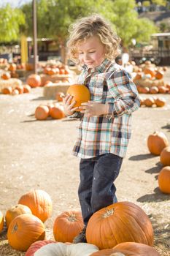
[(5, 217), (0, 214), (0, 232), (6, 222), (9, 245), (26, 251), (26, 256), (159, 256), (152, 247), (154, 237), (150, 219), (134, 203), (114, 203), (96, 211), (88, 222), (85, 244), (72, 244), (84, 227), (80, 211), (74, 210), (55, 217), (54, 240), (47, 240), (44, 222), (50, 217), (52, 208), (47, 192), (32, 189), (6, 211)]

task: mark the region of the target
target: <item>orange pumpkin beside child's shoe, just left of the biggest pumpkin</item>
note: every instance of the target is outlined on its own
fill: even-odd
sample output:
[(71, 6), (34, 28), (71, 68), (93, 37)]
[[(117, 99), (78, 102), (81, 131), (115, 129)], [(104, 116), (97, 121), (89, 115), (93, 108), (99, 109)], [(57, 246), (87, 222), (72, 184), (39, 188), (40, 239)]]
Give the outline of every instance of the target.
[(84, 227), (80, 211), (64, 211), (60, 214), (53, 225), (55, 241), (71, 242)]

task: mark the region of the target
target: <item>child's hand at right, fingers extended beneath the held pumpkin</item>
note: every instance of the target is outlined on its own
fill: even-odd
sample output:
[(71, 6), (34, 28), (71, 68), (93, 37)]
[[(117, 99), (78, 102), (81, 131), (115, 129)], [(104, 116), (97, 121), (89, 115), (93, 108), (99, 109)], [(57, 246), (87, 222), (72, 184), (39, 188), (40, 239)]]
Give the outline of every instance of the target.
[(107, 104), (101, 104), (98, 102), (84, 102), (79, 109), (80, 113), (84, 113), (86, 117), (107, 115)]

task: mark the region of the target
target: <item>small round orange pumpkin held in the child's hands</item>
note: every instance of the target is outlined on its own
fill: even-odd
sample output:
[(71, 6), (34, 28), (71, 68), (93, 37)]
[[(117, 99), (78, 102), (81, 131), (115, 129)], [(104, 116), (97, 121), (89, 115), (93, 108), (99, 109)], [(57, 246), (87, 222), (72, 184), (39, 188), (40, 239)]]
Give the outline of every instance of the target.
[(80, 107), (82, 102), (88, 102), (90, 100), (90, 91), (83, 84), (69, 86), (66, 94), (73, 96), (72, 102), (74, 102), (74, 100), (76, 101), (73, 108)]

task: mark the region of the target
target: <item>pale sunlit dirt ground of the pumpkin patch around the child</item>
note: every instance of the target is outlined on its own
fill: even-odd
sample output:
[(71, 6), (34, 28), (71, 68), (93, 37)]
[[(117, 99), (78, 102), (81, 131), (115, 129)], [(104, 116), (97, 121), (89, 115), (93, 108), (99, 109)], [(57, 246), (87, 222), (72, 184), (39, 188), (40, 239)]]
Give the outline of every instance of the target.
[[(169, 81), (170, 67), (165, 80)], [(170, 81), (169, 81), (170, 82)], [(53, 214), (45, 222), (53, 239), (55, 217), (68, 209), (80, 209), (77, 197), (79, 159), (72, 156), (78, 121), (36, 121), (34, 110), (43, 89), (15, 97), (0, 94), (0, 210), (5, 212), (30, 189), (44, 189), (53, 200)], [(162, 131), (170, 142), (170, 94), (161, 95), (163, 108), (140, 108), (134, 113), (133, 135), (115, 184), (120, 201), (136, 203), (150, 217), (155, 248), (170, 255), (170, 195), (158, 189), (159, 157), (147, 149), (147, 136)], [(0, 235), (0, 255), (25, 255), (11, 249), (7, 234)]]

